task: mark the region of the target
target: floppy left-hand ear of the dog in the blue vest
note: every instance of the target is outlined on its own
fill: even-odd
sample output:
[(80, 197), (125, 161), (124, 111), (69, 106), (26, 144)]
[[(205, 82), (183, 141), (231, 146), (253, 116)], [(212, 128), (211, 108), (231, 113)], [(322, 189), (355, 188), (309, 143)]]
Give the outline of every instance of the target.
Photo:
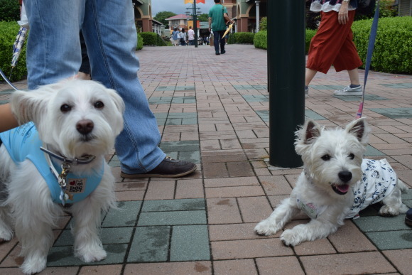
[(33, 90), (31, 92), (16, 91), (11, 95), (11, 112), (19, 124), (27, 122), (38, 123), (42, 114), (47, 112), (45, 105), (50, 98), (50, 92)]

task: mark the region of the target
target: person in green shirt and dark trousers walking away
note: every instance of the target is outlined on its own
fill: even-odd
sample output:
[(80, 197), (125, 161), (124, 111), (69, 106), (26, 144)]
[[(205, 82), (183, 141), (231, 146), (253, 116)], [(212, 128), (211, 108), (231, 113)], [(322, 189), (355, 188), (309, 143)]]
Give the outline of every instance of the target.
[[(215, 0), (215, 6), (209, 10), (209, 31), (213, 31), (213, 43), (215, 44), (216, 55), (220, 53), (226, 53), (224, 50), (224, 31), (226, 31), (226, 21), (233, 23), (233, 21), (227, 15), (227, 9), (220, 4), (221, 0)], [(220, 45), (220, 49), (219, 49)]]

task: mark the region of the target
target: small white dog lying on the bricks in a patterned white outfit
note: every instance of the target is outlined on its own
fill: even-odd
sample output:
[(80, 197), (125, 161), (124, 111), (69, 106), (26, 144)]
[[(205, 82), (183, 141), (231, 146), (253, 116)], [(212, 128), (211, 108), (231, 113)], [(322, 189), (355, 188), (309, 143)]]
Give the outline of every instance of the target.
[(281, 234), (288, 246), (327, 237), (344, 224), (345, 218), (373, 203), (384, 205), (380, 215), (399, 215), (408, 207), (402, 203), (406, 185), (396, 177), (386, 160), (363, 159), (369, 126), (364, 118), (345, 129), (325, 130), (313, 120), (296, 131), (296, 152), (304, 168), (290, 198), (255, 227), (257, 234), (275, 234), (303, 210), (310, 222)]

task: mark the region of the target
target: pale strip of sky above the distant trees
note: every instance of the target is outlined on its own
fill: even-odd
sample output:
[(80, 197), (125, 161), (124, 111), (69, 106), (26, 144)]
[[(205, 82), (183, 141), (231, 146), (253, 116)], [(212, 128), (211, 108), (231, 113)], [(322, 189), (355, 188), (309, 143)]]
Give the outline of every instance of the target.
[[(205, 4), (196, 4), (196, 8), (200, 8), (203, 14), (207, 14), (209, 9), (215, 5), (215, 1), (206, 0)], [(161, 11), (172, 11), (175, 14), (185, 14), (187, 8), (191, 8), (192, 4), (185, 4), (185, 0), (151, 0), (152, 16), (156, 16)]]

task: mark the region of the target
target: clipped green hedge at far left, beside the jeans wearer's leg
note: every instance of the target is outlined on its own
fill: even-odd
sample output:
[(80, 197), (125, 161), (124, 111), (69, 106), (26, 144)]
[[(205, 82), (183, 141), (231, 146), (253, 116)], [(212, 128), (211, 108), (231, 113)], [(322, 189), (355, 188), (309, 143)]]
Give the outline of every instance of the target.
[[(13, 44), (16, 41), (16, 36), (20, 26), (14, 21), (0, 21), (0, 66), (1, 70), (9, 76), (11, 72), (11, 58), (13, 57)], [(26, 41), (27, 42), (27, 41)], [(20, 58), (16, 68), (13, 68), (11, 81), (18, 81), (27, 76), (26, 69), (26, 42), (21, 49)], [(0, 77), (0, 81), (4, 80)]]

